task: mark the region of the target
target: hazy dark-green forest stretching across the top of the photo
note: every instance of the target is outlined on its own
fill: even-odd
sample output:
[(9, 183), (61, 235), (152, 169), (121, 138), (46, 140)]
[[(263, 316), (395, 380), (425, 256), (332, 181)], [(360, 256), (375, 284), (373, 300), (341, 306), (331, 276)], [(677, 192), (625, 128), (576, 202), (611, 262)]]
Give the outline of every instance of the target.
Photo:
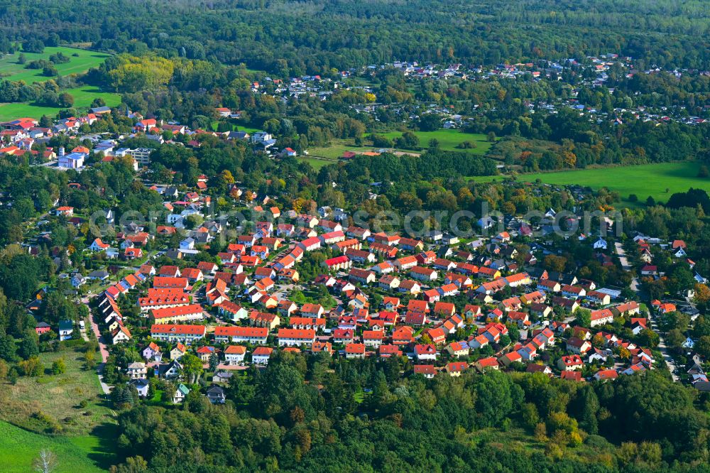
[[(662, 67), (710, 67), (703, 1), (3, 1), (13, 41), (246, 62), (290, 75), (393, 59), (496, 64), (619, 51)], [(268, 19), (267, 19), (268, 18)], [(265, 21), (266, 19), (266, 21)], [(337, 31), (337, 34), (333, 34)]]

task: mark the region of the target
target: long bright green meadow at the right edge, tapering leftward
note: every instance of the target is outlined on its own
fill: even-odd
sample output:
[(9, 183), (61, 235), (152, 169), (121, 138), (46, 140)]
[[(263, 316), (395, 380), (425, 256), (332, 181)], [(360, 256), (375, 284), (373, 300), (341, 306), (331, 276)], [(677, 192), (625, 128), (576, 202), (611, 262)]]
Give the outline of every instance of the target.
[[(710, 179), (698, 178), (699, 163), (659, 163), (626, 166), (618, 168), (589, 168), (555, 173), (536, 173), (518, 175), (518, 180), (554, 185), (584, 185), (593, 189), (608, 187), (621, 194), (627, 200), (630, 194), (638, 196), (640, 202), (648, 196), (656, 202), (665, 202), (674, 192), (685, 192), (690, 187), (704, 189), (710, 192)], [(480, 176), (471, 178), (476, 182), (503, 180), (505, 176)], [(666, 192), (666, 189), (668, 192)]]

